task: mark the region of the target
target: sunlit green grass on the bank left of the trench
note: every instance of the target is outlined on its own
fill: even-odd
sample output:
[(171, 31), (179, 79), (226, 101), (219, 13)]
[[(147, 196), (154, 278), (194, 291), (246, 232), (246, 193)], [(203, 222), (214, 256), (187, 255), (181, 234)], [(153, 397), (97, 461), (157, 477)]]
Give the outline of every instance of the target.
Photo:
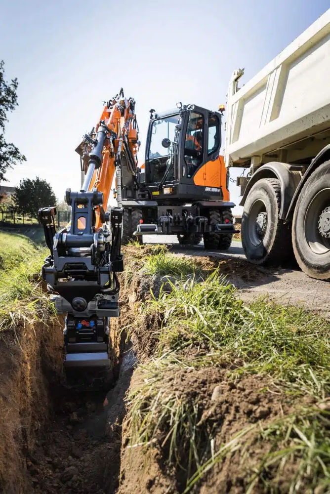
[(22, 235), (0, 232), (0, 331), (54, 316), (41, 286), (46, 255), (45, 248), (34, 246)]

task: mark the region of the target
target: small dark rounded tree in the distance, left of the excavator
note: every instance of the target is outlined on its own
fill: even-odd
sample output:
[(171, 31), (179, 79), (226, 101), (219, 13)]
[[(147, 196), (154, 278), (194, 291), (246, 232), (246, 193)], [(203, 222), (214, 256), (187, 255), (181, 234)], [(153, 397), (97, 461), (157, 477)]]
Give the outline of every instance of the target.
[(56, 197), (46, 180), (36, 177), (34, 180), (23, 178), (15, 187), (14, 201), (21, 214), (28, 214), (38, 219), (38, 209), (54, 206)]

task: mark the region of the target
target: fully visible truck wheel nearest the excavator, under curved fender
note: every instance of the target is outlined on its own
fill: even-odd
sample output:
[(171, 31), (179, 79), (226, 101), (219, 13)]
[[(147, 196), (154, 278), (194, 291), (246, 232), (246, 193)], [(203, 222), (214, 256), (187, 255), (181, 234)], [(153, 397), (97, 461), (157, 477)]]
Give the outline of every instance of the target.
[(242, 216), (242, 246), (252, 264), (279, 264), (292, 257), (289, 225), (279, 218), (281, 184), (262, 178), (251, 188)]

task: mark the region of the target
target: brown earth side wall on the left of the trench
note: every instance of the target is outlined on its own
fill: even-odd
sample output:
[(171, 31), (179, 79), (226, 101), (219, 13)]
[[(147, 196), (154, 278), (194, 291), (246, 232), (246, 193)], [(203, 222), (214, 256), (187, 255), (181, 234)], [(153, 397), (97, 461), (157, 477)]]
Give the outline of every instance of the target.
[(0, 336), (0, 492), (30, 493), (28, 457), (51, 414), (49, 382), (62, 376), (59, 324), (17, 327)]

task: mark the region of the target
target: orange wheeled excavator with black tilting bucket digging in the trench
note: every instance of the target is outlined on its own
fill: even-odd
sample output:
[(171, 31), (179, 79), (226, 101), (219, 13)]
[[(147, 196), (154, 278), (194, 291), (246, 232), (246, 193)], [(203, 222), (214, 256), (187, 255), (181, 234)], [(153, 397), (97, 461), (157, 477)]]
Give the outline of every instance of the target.
[[(123, 89), (76, 151), (82, 189), (66, 191), (70, 224), (56, 232), (55, 207), (39, 211), (50, 255), (42, 277), (66, 314), (65, 367), (111, 370), (109, 321), (119, 316), (121, 243), (143, 234), (175, 234), (182, 244), (228, 248), (233, 219), (222, 157), (221, 113), (196, 105), (151, 111), (145, 168), (137, 166), (135, 101)], [(117, 206), (107, 212), (116, 177)], [(122, 231), (123, 229), (123, 231)]]

